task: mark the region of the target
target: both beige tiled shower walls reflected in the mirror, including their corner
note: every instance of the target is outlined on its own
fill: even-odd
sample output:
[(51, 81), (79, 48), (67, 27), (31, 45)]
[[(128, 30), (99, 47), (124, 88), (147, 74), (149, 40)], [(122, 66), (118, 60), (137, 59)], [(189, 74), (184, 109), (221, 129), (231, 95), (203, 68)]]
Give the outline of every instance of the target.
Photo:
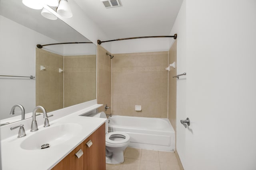
[(96, 55), (62, 56), (36, 49), (36, 106), (49, 112), (95, 98)]

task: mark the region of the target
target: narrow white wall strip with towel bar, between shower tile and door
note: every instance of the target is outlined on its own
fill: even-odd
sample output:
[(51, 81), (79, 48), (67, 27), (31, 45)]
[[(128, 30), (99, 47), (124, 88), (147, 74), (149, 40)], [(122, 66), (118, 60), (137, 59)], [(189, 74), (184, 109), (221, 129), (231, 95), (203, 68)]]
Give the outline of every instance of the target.
[[(187, 72), (186, 70), (186, 0), (183, 1), (170, 35), (177, 33), (177, 74)], [(170, 41), (170, 46), (174, 41)], [(189, 74), (189, 73), (188, 73)], [(176, 110), (176, 150), (181, 162), (186, 161), (186, 131), (180, 123), (186, 119), (186, 76), (177, 79), (177, 110)], [(185, 168), (185, 164), (183, 165)]]

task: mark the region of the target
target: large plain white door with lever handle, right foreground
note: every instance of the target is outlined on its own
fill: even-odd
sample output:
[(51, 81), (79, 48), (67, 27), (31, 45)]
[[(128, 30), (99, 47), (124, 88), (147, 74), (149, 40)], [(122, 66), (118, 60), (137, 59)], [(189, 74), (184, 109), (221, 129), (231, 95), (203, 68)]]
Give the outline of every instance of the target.
[(186, 105), (178, 91), (177, 107), (191, 121), (184, 168), (256, 169), (256, 1), (186, 1), (185, 15), (176, 20), (186, 23), (186, 57), (177, 62), (187, 72)]

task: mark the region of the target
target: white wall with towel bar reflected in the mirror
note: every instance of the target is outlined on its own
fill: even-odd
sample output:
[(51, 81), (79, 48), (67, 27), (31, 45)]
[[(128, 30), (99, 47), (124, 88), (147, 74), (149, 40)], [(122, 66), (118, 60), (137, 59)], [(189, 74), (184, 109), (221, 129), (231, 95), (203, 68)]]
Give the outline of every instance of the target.
[[(0, 74), (35, 76), (36, 44), (57, 42), (3, 16), (0, 25)], [(57, 49), (60, 50), (63, 48)], [(15, 104), (22, 104), (26, 112), (31, 112), (35, 107), (35, 88), (34, 79), (0, 77), (0, 119), (10, 117)], [(21, 113), (16, 110), (16, 115)]]

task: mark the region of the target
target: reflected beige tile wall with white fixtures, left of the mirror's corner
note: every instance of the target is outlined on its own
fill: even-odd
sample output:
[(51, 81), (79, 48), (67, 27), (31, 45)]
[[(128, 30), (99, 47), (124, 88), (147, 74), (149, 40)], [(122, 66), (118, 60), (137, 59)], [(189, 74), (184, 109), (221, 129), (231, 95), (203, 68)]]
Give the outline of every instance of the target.
[[(40, 65), (46, 70), (40, 71)], [(46, 111), (63, 108), (63, 56), (36, 48), (36, 106)]]

